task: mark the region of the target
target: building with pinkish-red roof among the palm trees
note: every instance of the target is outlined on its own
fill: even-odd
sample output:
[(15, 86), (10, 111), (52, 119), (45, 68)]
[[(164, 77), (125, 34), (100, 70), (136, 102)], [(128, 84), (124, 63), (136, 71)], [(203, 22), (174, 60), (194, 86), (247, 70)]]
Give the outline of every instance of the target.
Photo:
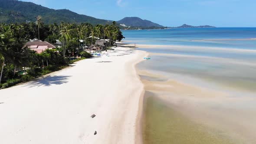
[(42, 41), (27, 42), (25, 46), (27, 46), (31, 50), (36, 51), (36, 53), (42, 53), (46, 49), (56, 49), (56, 46), (53, 46), (48, 42), (42, 42)]

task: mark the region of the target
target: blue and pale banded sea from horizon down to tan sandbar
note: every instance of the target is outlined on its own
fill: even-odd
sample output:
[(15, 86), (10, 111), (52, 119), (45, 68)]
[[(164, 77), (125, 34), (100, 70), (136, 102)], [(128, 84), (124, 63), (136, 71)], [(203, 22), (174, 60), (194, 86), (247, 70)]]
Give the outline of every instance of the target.
[[(256, 90), (256, 28), (124, 30), (125, 41), (145, 45), (141, 69), (183, 74), (207, 83)], [(207, 40), (210, 39), (210, 40)], [(221, 40), (222, 39), (222, 40)], [(203, 41), (201, 41), (203, 40)], [(164, 55), (161, 55), (164, 54)], [(173, 76), (173, 75), (172, 75)]]

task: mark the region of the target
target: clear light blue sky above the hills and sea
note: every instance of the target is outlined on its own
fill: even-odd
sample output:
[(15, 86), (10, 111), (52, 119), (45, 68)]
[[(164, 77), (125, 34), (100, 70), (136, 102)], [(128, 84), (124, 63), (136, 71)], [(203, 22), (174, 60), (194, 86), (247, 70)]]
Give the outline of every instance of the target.
[(256, 0), (22, 0), (105, 20), (137, 16), (163, 26), (256, 27)]

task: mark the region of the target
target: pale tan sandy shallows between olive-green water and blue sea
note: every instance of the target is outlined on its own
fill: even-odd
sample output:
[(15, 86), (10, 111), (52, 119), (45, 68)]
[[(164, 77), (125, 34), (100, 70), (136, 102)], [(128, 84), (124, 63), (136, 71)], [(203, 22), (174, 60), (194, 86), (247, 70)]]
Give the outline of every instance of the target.
[[(164, 75), (154, 72), (151, 73), (151, 71), (147, 69), (139, 69), (138, 73), (142, 76), (145, 92), (154, 93), (156, 96), (155, 99), (159, 98), (161, 104), (168, 105), (167, 108), (165, 108), (166, 111), (170, 110), (175, 112), (175, 114), (181, 115), (183, 121), (190, 121), (192, 125), (202, 125), (204, 131), (214, 135), (214, 137), (212, 137), (214, 141), (222, 139), (226, 141), (226, 143), (246, 142), (253, 144), (255, 142), (252, 134), (256, 129), (250, 127), (250, 124), (253, 123), (252, 120), (255, 118), (255, 115), (253, 115), (255, 113), (254, 109), (249, 107), (237, 108), (234, 106), (235, 104), (238, 106), (246, 105), (246, 101), (253, 100), (253, 98), (250, 98), (248, 95), (236, 97), (230, 92), (231, 89), (224, 92), (220, 89), (194, 85), (186, 81), (165, 78)], [(247, 94), (247, 92), (243, 93), (244, 91), (237, 89), (234, 93), (235, 92), (241, 92), (238, 94)], [(157, 102), (158, 101), (155, 101), (154, 105)], [(234, 103), (234, 105), (232, 103)], [(144, 103), (144, 105), (146, 104)], [(161, 111), (158, 112), (160, 113)], [(245, 112), (249, 112), (249, 115)], [(153, 115), (152, 111), (151, 113)], [(239, 113), (241, 117), (237, 118), (237, 113)], [(157, 114), (155, 114), (155, 116), (156, 115)], [(152, 119), (152, 116), (148, 117)], [(167, 119), (168, 117), (164, 116), (159, 118)], [(169, 120), (171, 121), (171, 119)], [(236, 125), (237, 123), (240, 123), (240, 125)], [(155, 125), (154, 128), (161, 126), (161, 124)], [(147, 130), (144, 129), (144, 131)], [(197, 130), (195, 129), (195, 131)], [(217, 131), (221, 134), (218, 135)], [(161, 133), (161, 131), (159, 131), (159, 133)], [(163, 135), (164, 134), (167, 133), (163, 133)], [(153, 137), (153, 135), (148, 137)], [(205, 135), (204, 137), (208, 136)], [(215, 143), (212, 142), (212, 144)]]

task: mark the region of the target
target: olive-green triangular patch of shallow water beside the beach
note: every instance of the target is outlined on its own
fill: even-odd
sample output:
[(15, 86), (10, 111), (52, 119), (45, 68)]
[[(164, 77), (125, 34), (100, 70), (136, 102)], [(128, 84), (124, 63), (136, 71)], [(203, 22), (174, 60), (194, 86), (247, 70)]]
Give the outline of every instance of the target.
[(188, 120), (154, 94), (145, 95), (144, 144), (234, 144), (214, 129)]

